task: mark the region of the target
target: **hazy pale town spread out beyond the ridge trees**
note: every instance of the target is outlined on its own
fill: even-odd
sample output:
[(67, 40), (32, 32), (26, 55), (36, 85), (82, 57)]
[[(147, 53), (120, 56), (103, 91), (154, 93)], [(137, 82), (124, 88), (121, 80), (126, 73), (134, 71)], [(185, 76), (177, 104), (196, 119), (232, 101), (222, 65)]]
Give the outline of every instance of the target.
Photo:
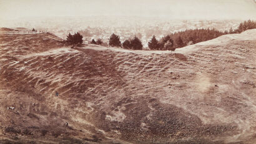
[[(129, 20), (128, 20), (129, 19)], [(34, 27), (39, 31), (48, 31), (56, 36), (66, 39), (67, 34), (79, 32), (83, 36), (85, 43), (89, 43), (92, 39), (102, 39), (108, 42), (112, 33), (120, 36), (120, 41), (131, 39), (136, 36), (142, 41), (143, 47), (147, 47), (153, 35), (160, 39), (167, 34), (185, 31), (186, 29), (202, 29), (210, 28), (219, 31), (228, 31), (230, 27), (233, 29), (239, 26), (239, 20), (168, 20), (168, 19), (152, 19), (141, 17), (56, 17), (56, 19), (34, 19), (33, 21), (22, 19), (17, 24), (10, 22), (12, 27), (25, 27), (27, 29)]]

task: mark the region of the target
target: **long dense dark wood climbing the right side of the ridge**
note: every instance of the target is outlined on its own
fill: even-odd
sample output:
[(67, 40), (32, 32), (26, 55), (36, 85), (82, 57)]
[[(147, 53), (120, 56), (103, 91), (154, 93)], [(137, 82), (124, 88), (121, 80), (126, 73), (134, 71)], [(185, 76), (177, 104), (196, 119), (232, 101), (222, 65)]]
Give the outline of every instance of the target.
[[(239, 24), (239, 27), (235, 30), (230, 28), (229, 31), (218, 31), (216, 29), (189, 29), (180, 32), (174, 32), (169, 34), (158, 42), (153, 36), (149, 42), (149, 48), (152, 50), (175, 50), (175, 48), (189, 46), (191, 44), (196, 44), (198, 42), (209, 41), (210, 39), (215, 39), (216, 37), (222, 36), (224, 34), (239, 34), (248, 29), (256, 29), (256, 21), (244, 21)], [(152, 47), (152, 43), (154, 46)]]

